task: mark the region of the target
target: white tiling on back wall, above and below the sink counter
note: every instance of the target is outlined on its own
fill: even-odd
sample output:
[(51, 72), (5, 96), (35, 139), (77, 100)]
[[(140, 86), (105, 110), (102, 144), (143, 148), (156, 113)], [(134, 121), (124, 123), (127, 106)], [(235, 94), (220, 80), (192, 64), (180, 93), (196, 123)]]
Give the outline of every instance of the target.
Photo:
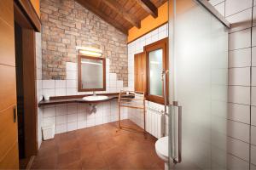
[[(67, 62), (67, 80), (43, 80), (43, 94), (49, 96), (65, 96), (77, 94), (92, 94), (92, 92), (78, 92), (77, 64)], [(117, 79), (115, 73), (109, 73), (109, 59), (106, 62), (107, 91), (98, 93), (116, 93), (123, 87), (123, 81)], [(90, 127), (102, 123), (118, 120), (117, 101), (106, 102), (98, 105), (96, 113), (86, 114), (89, 106), (87, 104), (53, 105), (44, 107), (44, 124), (55, 123), (56, 133), (79, 128)], [(104, 108), (104, 109), (103, 109)], [(122, 110), (122, 119), (126, 119), (127, 111)], [(41, 131), (41, 130), (40, 130)], [(38, 132), (40, 132), (38, 131)]]

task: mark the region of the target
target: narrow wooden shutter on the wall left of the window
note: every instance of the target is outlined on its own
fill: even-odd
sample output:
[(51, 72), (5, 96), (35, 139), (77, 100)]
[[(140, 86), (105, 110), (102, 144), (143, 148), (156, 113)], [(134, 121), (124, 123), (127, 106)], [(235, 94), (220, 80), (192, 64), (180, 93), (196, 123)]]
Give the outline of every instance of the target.
[(146, 54), (134, 55), (134, 89), (139, 92), (146, 92), (147, 88), (147, 69)]

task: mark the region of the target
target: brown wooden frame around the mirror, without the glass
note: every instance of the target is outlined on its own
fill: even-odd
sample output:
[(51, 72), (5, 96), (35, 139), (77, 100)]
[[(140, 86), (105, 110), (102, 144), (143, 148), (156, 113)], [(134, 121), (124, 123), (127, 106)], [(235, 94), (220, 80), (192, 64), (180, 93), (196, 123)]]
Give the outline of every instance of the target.
[[(78, 86), (79, 92), (91, 92), (91, 91), (106, 91), (106, 58), (103, 57), (91, 57), (79, 54), (78, 57)], [(81, 79), (81, 59), (97, 59), (102, 60), (103, 65), (103, 88), (82, 88), (82, 79)]]

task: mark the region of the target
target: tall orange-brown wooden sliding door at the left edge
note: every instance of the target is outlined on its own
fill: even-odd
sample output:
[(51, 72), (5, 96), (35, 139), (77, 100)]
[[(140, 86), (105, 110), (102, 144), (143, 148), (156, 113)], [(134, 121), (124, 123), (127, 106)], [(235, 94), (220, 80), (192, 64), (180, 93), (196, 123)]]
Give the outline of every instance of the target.
[(14, 4), (0, 1), (0, 169), (19, 168)]

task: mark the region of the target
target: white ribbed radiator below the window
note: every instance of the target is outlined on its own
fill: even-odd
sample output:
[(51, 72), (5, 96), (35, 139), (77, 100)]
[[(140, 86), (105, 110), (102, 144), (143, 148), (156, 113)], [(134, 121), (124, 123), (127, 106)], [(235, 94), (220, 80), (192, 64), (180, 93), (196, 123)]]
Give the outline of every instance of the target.
[(146, 131), (157, 139), (166, 135), (166, 116), (163, 110), (147, 105)]

